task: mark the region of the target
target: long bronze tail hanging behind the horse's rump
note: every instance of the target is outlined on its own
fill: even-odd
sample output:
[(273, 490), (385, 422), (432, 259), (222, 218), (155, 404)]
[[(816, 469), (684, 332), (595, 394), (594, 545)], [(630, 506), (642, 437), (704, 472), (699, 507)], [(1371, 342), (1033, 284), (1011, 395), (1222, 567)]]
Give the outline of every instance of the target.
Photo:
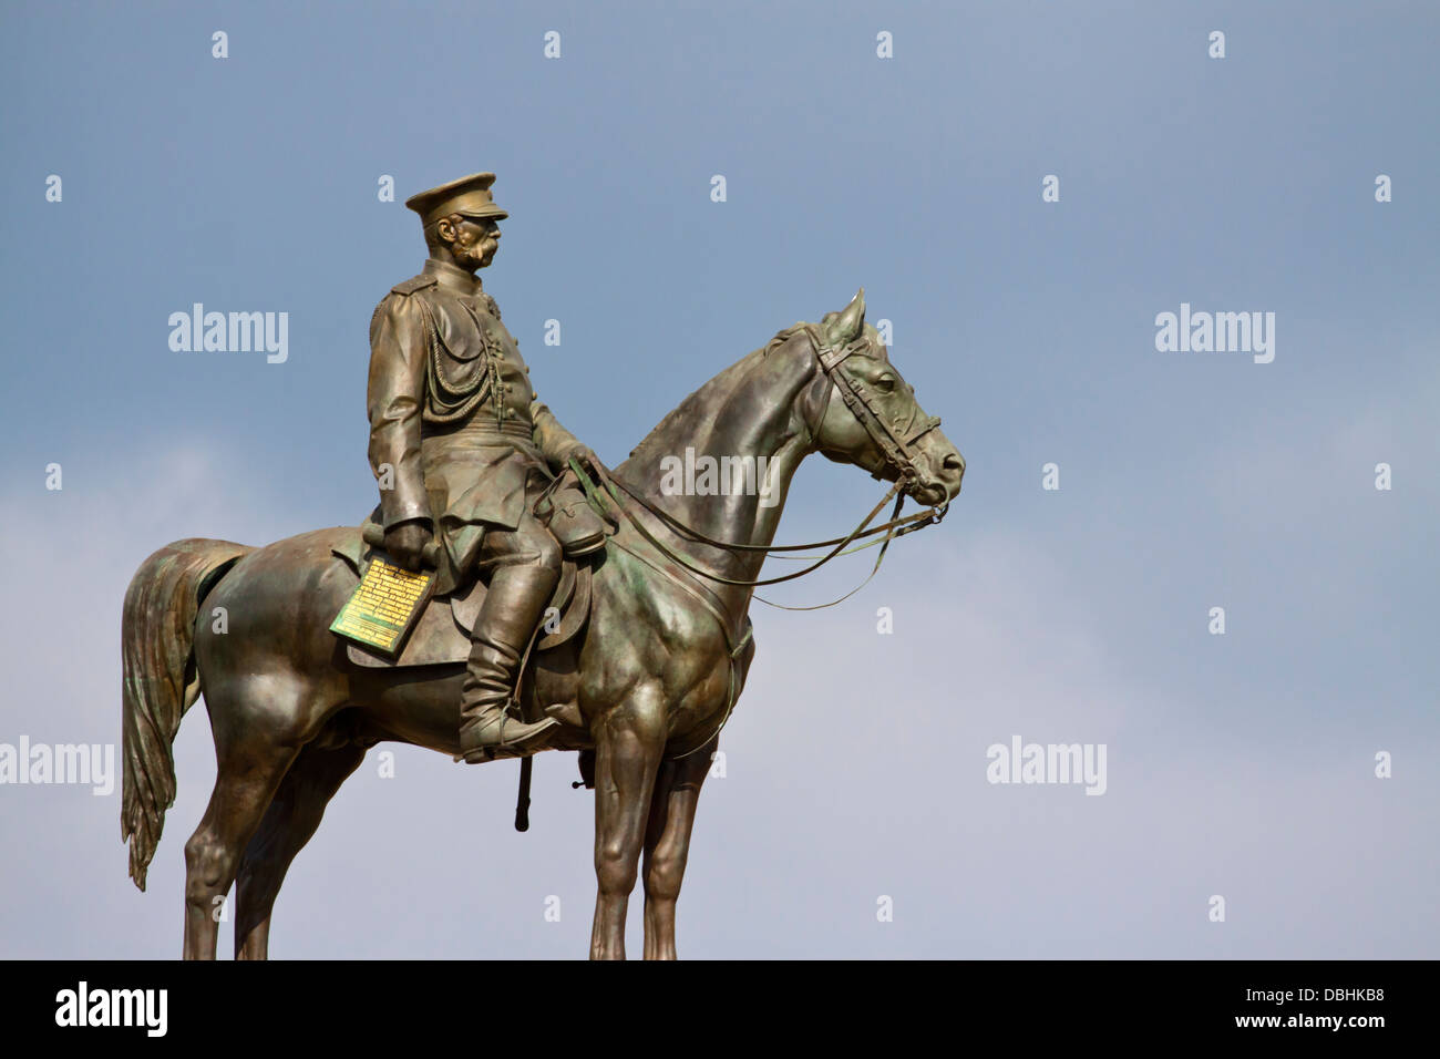
[(141, 890), (176, 798), (171, 743), (180, 718), (200, 696), (194, 663), (200, 602), (251, 550), (229, 540), (176, 540), (145, 559), (125, 589), (120, 836), (130, 840), (130, 877)]

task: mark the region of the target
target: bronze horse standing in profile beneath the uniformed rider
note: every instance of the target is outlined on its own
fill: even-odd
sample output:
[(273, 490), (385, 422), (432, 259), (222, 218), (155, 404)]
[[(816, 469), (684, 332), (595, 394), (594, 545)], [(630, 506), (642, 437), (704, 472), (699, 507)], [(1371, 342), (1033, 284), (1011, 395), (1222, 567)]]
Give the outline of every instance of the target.
[[(819, 324), (780, 331), (685, 398), (605, 475), (605, 491), (592, 490), (612, 535), (580, 560), (589, 563), (588, 614), (563, 643), (534, 645), (523, 680), (527, 710), (563, 722), (547, 749), (580, 751), (595, 788), (592, 958), (625, 957), (641, 872), (645, 958), (675, 958), (696, 803), (755, 656), (755, 586), (788, 579), (759, 581), (759, 572), (783, 550), (772, 542), (801, 461), (818, 451), (894, 483), (896, 514), (910, 496), (930, 506), (926, 522), (960, 490), (963, 458), (920, 409), (864, 311), (861, 290)], [(662, 488), (687, 450), (753, 457), (765, 481), (752, 488), (737, 474), (744, 488)], [(868, 522), (821, 543), (838, 545), (835, 555), (868, 536)], [(141, 890), (174, 803), (171, 743), (202, 693), (215, 738), (215, 790), (184, 846), (186, 958), (215, 958), (213, 911), (232, 885), (236, 958), (266, 958), (285, 872), (370, 746), (459, 751), (464, 654), (422, 667), (357, 664), (330, 631), (357, 584), (341, 556), (359, 555), (359, 537), (357, 527), (336, 527), (265, 548), (179, 540), (145, 559), (125, 592), (121, 830)], [(223, 633), (209, 621), (219, 607)], [(456, 620), (461, 609), (455, 602)]]

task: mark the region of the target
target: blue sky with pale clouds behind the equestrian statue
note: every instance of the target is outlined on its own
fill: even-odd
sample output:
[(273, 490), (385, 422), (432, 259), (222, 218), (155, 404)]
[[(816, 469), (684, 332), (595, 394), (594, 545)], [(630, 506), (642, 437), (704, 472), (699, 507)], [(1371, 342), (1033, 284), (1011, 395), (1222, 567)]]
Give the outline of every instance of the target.
[[(1437, 955), (1433, 6), (0, 17), (0, 535), (19, 565), (0, 742), (118, 741), (120, 601), (157, 546), (373, 506), (367, 326), (425, 256), (376, 182), (403, 200), (488, 169), (511, 216), (487, 290), (603, 460), (864, 285), (969, 467), (946, 523), (842, 608), (755, 608), (681, 955)], [(167, 318), (196, 301), (289, 313), (288, 360), (171, 352)], [(1274, 362), (1158, 352), (1181, 303), (1273, 311)], [(806, 464), (780, 537), (842, 532), (877, 496)], [(867, 563), (772, 595), (832, 598)], [(1107, 743), (1106, 795), (986, 784), (985, 748), (1012, 733)], [(0, 954), (179, 951), (180, 847), (213, 779), (200, 707), (177, 758), (147, 895), (118, 795), (0, 787), (0, 843), (26, 852), (0, 869)], [(513, 768), (399, 762), (337, 797), (272, 951), (582, 955), (590, 795), (570, 761), (537, 764), (527, 836), (505, 830)], [(436, 911), (451, 893), (492, 909), (484, 945)]]

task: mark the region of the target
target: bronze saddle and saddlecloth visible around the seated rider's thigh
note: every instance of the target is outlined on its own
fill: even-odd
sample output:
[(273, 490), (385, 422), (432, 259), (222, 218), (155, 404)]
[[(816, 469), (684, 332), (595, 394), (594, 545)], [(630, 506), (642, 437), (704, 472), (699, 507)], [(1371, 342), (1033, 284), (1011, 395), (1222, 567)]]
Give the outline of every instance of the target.
[[(333, 546), (330, 553), (344, 560), (359, 585), (374, 549), (360, 539), (360, 530), (356, 529), (347, 533), (340, 545)], [(346, 653), (356, 666), (367, 669), (464, 664), (469, 658), (469, 635), (480, 617), (480, 607), (485, 602), (485, 582), (475, 578), (455, 592), (431, 599), (396, 658), (387, 658), (350, 641), (346, 641)], [(546, 617), (541, 620), (531, 656), (572, 640), (589, 615), (590, 558), (585, 556), (579, 562), (566, 558), (560, 569), (560, 584), (546, 605)]]

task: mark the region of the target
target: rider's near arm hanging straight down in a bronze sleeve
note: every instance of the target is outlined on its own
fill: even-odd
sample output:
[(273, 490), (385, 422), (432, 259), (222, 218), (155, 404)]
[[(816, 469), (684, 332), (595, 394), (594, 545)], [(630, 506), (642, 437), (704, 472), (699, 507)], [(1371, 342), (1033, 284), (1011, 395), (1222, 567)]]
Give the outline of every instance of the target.
[[(429, 519), (420, 465), (420, 405), (425, 399), (425, 329), (413, 295), (390, 294), (370, 320), (370, 470), (380, 487), (384, 527)], [(384, 488), (383, 467), (392, 470)]]

